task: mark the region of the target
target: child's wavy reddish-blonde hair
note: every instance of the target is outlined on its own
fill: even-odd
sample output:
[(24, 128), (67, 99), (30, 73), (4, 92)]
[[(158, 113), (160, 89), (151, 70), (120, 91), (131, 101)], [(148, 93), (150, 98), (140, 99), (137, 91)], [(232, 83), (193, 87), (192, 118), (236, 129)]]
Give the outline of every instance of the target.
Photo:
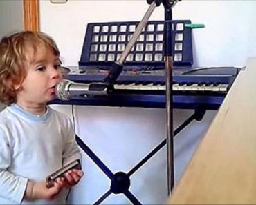
[(34, 52), (38, 45), (50, 49), (60, 57), (55, 41), (43, 32), (23, 31), (3, 37), (0, 41), (0, 101), (10, 105), (17, 101), (15, 84), (26, 77), (26, 48), (31, 46)]

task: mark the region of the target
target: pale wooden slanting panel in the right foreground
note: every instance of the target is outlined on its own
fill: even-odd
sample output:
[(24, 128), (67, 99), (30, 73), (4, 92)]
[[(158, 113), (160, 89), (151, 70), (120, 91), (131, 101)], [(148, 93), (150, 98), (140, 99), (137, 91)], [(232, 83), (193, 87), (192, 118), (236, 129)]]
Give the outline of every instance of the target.
[(251, 58), (167, 204), (256, 204), (255, 79)]

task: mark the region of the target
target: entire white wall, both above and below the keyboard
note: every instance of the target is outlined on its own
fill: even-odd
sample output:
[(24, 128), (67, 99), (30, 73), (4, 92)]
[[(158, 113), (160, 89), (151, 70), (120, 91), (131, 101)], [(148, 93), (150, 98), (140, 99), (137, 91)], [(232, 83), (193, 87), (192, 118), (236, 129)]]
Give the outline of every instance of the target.
[[(64, 64), (77, 65), (89, 22), (140, 21), (146, 1), (75, 1), (51, 4), (40, 1), (41, 30), (60, 47)], [(195, 66), (245, 66), (256, 55), (256, 1), (181, 1), (174, 19), (191, 19), (205, 28), (193, 30)], [(151, 20), (163, 19), (156, 8)], [(55, 106), (71, 116), (71, 106)], [(190, 111), (174, 110), (177, 126)], [(201, 122), (193, 122), (175, 139), (176, 180), (187, 165), (196, 145), (215, 115), (208, 111)], [(165, 138), (165, 110), (75, 106), (77, 133), (116, 173), (127, 172), (149, 150)], [(131, 177), (131, 191), (143, 204), (163, 204), (167, 199), (165, 148)], [(75, 204), (93, 204), (109, 189), (109, 179), (84, 157), (86, 172), (71, 195)], [(123, 195), (111, 195), (104, 204), (127, 204)]]

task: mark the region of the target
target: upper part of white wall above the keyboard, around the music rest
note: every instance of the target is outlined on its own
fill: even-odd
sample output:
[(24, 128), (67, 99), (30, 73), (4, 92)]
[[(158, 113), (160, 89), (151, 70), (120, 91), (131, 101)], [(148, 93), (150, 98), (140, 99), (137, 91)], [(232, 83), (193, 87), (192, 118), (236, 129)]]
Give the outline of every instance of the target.
[[(40, 24), (60, 46), (66, 65), (77, 65), (86, 24), (107, 21), (140, 21), (148, 5), (141, 1), (80, 1), (65, 4), (40, 1)], [(244, 66), (256, 55), (256, 1), (183, 0), (173, 9), (174, 19), (204, 23), (194, 31), (195, 65)], [(163, 19), (163, 7), (155, 9), (151, 20)]]

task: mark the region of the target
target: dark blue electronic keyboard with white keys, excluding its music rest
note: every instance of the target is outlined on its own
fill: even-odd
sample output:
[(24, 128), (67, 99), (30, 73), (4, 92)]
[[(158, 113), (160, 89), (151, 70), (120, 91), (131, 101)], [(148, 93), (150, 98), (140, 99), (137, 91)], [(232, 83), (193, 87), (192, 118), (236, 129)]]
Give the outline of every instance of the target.
[[(174, 108), (206, 110), (218, 109), (240, 68), (209, 67), (179, 68), (173, 70)], [(79, 82), (100, 82), (109, 70), (102, 68), (70, 67), (65, 69), (66, 78)], [(140, 70), (123, 70), (113, 91), (106, 96), (74, 97), (69, 101), (56, 99), (51, 103), (128, 106), (145, 108), (165, 108), (165, 70), (152, 70), (150, 67)]]

